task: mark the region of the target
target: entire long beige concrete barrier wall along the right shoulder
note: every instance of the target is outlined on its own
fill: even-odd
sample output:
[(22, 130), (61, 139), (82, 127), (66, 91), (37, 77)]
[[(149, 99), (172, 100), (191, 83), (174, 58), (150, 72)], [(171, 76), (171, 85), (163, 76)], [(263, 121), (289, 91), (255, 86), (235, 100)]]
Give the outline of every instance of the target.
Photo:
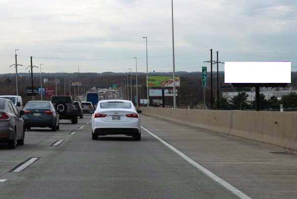
[(297, 112), (139, 109), (145, 115), (297, 150)]

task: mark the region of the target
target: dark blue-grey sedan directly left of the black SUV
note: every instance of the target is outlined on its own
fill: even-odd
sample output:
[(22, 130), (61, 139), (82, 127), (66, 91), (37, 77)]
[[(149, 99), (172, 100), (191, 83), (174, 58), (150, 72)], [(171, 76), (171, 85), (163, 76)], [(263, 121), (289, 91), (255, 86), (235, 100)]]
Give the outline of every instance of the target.
[(23, 108), (25, 126), (28, 130), (31, 127), (49, 127), (53, 131), (59, 130), (59, 114), (50, 101), (29, 101)]

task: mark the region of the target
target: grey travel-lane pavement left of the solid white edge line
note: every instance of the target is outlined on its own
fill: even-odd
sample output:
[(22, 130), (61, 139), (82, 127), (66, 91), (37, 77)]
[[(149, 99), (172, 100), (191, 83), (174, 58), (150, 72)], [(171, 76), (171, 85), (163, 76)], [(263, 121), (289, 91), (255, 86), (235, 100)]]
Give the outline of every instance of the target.
[[(90, 116), (59, 131), (26, 131), (15, 150), (0, 146), (0, 198), (234, 198), (144, 130), (142, 140), (91, 140)], [(62, 142), (55, 146), (57, 141)], [(11, 172), (34, 159), (20, 172)], [(26, 162), (25, 162), (26, 163)], [(29, 163), (28, 163), (29, 164)]]

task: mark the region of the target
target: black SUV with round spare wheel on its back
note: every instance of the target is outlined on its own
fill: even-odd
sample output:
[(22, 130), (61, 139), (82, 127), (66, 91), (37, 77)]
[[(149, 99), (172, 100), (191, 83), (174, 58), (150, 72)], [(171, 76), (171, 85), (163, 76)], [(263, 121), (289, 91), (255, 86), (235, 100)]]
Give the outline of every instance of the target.
[(53, 103), (57, 112), (59, 113), (60, 120), (71, 120), (71, 124), (78, 123), (78, 110), (76, 106), (73, 105), (73, 100), (71, 96), (53, 95), (51, 97), (51, 102)]

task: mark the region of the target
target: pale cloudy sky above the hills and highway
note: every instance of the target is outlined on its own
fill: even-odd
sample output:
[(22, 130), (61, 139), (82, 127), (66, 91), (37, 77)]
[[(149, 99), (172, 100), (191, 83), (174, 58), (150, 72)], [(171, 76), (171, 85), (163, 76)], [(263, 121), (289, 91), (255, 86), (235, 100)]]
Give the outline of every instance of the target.
[[(291, 61), (297, 71), (297, 1), (175, 0), (176, 71), (220, 61)], [(172, 70), (170, 0), (0, 0), (0, 67), (12, 73), (14, 49), (24, 67), (43, 72)], [(214, 54), (214, 57), (216, 55)], [(296, 68), (295, 68), (296, 67)], [(224, 70), (220, 66), (220, 70)]]

